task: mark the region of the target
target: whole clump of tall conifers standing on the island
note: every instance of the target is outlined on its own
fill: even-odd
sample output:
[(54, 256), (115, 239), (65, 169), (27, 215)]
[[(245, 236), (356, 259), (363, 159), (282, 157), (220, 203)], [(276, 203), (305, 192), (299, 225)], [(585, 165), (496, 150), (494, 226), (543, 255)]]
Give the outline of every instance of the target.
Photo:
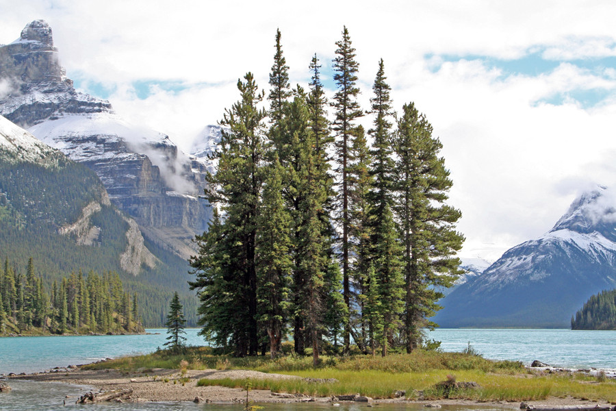
[(196, 238), (191, 286), (201, 334), (236, 356), (276, 356), (285, 338), (314, 362), (352, 345), (410, 352), (460, 273), (441, 142), (414, 103), (394, 112), (383, 60), (361, 108), (346, 27), (335, 45), (331, 101), (316, 55), (308, 87), (291, 87), (277, 32), (268, 108), (247, 73), (220, 121), (205, 193), (216, 210)]

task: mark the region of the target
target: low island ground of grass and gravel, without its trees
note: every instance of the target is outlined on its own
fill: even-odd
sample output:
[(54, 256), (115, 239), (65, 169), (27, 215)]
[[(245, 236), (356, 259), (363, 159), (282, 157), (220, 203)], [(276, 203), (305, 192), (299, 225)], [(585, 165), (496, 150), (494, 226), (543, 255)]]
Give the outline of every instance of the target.
[[(267, 355), (234, 358), (211, 347), (182, 347), (11, 378), (94, 386), (101, 390), (101, 401), (116, 401), (114, 396), (120, 395), (121, 401), (246, 403), (248, 399), (248, 403), (333, 406), (353, 401), (435, 408), (491, 403), (510, 409), (519, 409), (523, 402), (535, 410), (573, 406), (611, 410), (616, 403), (616, 381), (605, 375), (487, 360), (476, 351), (416, 349), (387, 357), (323, 353), (318, 366), (310, 355), (292, 355), (292, 343), (283, 343), (282, 351), (272, 360)], [(96, 402), (97, 394), (92, 393)]]

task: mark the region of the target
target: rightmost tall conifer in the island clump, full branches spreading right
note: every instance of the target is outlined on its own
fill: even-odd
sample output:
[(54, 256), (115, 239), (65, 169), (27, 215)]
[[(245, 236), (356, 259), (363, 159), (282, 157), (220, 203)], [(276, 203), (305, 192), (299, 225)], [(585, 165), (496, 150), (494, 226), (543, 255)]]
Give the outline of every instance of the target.
[(441, 308), (437, 301), (443, 294), (437, 289), (451, 286), (461, 273), (454, 253), (464, 238), (455, 231), (460, 211), (445, 203), (452, 181), (439, 157), (441, 142), (433, 138), (432, 126), (413, 103), (402, 108), (394, 147), (395, 210), (405, 247), (403, 331), (410, 353), (420, 343), (421, 330), (435, 326), (429, 317)]

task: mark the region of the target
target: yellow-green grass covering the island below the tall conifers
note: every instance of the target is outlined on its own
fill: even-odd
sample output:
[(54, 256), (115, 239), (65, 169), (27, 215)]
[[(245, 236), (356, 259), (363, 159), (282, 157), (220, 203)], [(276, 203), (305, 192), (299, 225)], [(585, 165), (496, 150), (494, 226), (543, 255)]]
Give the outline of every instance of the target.
[[(337, 382), (307, 382), (303, 379), (259, 379), (255, 389), (278, 393), (303, 393), (326, 397), (355, 394), (373, 398), (393, 398), (405, 390), (409, 399), (472, 399), (476, 401), (537, 401), (549, 397), (576, 397), (616, 404), (616, 382), (581, 373), (542, 373), (529, 371), (522, 363), (491, 361), (475, 353), (443, 353), (417, 350), (385, 358), (372, 356), (322, 357), (317, 368), (308, 357), (284, 356), (230, 358), (211, 355), (205, 347), (186, 349), (182, 354), (157, 351), (145, 356), (125, 357), (90, 364), (86, 369), (249, 369), (266, 373), (284, 373)], [(476, 382), (477, 389), (446, 392), (435, 387), (439, 382), (456, 379)], [(201, 386), (243, 387), (243, 379), (201, 379)]]

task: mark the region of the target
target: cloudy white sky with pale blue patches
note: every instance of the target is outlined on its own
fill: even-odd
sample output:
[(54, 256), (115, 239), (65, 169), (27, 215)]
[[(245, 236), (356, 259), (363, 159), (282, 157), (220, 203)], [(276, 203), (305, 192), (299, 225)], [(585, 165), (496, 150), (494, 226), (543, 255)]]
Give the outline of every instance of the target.
[(362, 107), (383, 58), (396, 111), (413, 101), (443, 143), (463, 257), (496, 260), (616, 186), (613, 1), (0, 0), (0, 16), (0, 44), (47, 21), (76, 88), (184, 151), (246, 72), (267, 89), (277, 29), (291, 83), (316, 53), (333, 94), (346, 25)]

